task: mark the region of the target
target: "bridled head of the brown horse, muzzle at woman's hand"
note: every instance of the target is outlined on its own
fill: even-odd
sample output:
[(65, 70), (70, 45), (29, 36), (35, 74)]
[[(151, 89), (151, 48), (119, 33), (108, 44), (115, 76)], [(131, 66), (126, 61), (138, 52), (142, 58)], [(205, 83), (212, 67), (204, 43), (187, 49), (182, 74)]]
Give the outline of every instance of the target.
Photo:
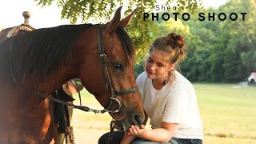
[[(123, 30), (134, 12), (121, 21), (120, 13), (121, 7), (110, 22), (92, 26), (89, 30), (94, 30), (94, 33), (82, 33), (77, 42), (80, 49), (74, 54), (82, 57), (79, 76), (86, 89), (122, 124), (116, 128), (127, 130), (132, 124), (140, 126), (144, 114), (134, 77), (134, 45)], [(90, 41), (90, 44), (86, 45), (85, 41)]]

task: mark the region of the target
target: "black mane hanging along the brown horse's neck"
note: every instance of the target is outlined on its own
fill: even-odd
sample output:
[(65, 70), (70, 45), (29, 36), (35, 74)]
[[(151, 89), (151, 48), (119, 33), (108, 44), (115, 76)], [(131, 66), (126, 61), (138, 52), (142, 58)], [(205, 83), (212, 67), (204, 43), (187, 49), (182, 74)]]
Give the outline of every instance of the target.
[[(84, 25), (63, 25), (24, 32), (10, 39), (13, 51), (19, 54), (19, 63), (15, 62), (18, 75), (26, 76), (36, 70), (38, 76), (44, 76), (59, 66), (70, 61), (73, 45), (82, 30), (90, 27)], [(22, 49), (22, 50), (18, 50)], [(14, 59), (14, 58), (13, 58)]]

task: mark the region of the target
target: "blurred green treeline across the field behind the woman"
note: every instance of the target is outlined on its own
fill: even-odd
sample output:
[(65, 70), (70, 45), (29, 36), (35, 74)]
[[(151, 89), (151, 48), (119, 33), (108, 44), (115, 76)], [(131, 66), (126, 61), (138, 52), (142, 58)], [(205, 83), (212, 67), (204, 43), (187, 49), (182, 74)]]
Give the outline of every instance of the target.
[[(157, 32), (150, 32), (150, 35), (152, 39), (170, 32), (185, 36), (189, 51), (179, 66), (191, 82), (241, 82), (256, 71), (255, 7), (254, 0), (230, 0), (218, 9), (198, 10), (188, 21), (160, 20), (156, 22)], [(215, 14), (214, 21), (207, 18), (198, 21), (197, 14), (202, 12)], [(220, 13), (246, 15), (244, 21), (242, 17), (235, 21), (230, 18), (221, 21), (218, 19)], [(138, 59), (142, 60), (135, 66), (136, 75), (143, 71), (145, 58)]]

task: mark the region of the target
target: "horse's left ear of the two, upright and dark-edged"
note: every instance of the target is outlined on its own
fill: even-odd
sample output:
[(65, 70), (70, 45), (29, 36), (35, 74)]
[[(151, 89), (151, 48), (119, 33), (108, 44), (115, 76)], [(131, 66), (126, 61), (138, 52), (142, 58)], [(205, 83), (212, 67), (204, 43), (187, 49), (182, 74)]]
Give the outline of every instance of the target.
[(107, 24), (106, 29), (110, 34), (113, 34), (114, 31), (117, 29), (120, 19), (121, 19), (121, 9), (122, 6), (115, 11), (114, 18)]

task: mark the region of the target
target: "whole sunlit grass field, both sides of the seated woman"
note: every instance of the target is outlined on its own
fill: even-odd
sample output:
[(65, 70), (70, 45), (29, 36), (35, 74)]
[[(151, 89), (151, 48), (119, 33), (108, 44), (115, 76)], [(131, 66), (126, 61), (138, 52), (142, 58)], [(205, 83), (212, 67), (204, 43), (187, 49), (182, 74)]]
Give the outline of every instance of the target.
[[(194, 84), (204, 122), (206, 144), (256, 143), (256, 87), (239, 88), (231, 84)], [(78, 104), (78, 96), (75, 101)], [(82, 90), (82, 104), (102, 109), (94, 96)], [(110, 130), (109, 114), (74, 110), (72, 126), (78, 144), (94, 144)], [(146, 126), (150, 127), (150, 126)]]

